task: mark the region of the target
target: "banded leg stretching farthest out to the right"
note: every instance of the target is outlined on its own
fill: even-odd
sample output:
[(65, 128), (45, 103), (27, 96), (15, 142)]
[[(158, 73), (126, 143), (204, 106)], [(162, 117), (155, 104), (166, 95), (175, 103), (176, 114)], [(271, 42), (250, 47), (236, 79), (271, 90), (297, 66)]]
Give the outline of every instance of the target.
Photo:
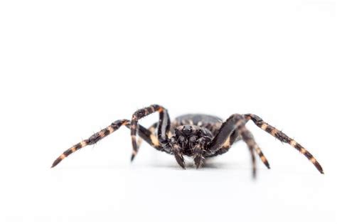
[(309, 159), (312, 164), (314, 164), (314, 166), (316, 167), (316, 169), (318, 169), (319, 172), (321, 172), (321, 174), (324, 174), (321, 165), (314, 158), (314, 156), (309, 151), (307, 151), (306, 149), (304, 149), (303, 146), (301, 146), (300, 144), (298, 144), (297, 142), (295, 142), (294, 139), (289, 138), (283, 132), (281, 132), (278, 129), (276, 129), (275, 127), (272, 127), (271, 125), (267, 124), (266, 122), (264, 122), (260, 117), (258, 117), (255, 114), (245, 114), (245, 118), (247, 119), (247, 121), (251, 119), (258, 127), (260, 127), (265, 132), (268, 132), (269, 134), (272, 134), (272, 136), (274, 136), (277, 139), (279, 139), (279, 141), (285, 142), (285, 143), (290, 144), (291, 146), (293, 146), (295, 149), (297, 149), (299, 152), (301, 152), (301, 154), (304, 154), (304, 156), (306, 156), (306, 158)]

